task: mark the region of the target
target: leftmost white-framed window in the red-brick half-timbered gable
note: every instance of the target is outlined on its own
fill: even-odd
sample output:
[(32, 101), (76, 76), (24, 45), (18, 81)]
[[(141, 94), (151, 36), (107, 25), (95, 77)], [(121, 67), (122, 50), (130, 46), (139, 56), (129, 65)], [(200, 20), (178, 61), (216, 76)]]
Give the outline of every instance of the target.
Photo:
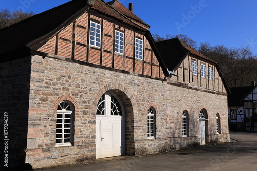
[(101, 45), (101, 25), (90, 22), (89, 45), (100, 48)]

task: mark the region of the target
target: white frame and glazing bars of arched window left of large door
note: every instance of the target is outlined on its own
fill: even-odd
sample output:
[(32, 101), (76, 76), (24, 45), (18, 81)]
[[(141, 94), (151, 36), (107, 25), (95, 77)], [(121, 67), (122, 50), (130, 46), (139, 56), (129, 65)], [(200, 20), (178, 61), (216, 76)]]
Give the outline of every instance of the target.
[[(58, 146), (71, 146), (71, 142), (73, 140), (73, 127), (74, 127), (74, 122), (73, 122), (73, 114), (71, 110), (66, 110), (66, 108), (63, 108), (63, 106), (61, 106), (62, 104), (67, 103), (65, 101), (62, 101), (61, 103), (59, 103), (59, 106), (62, 108), (62, 110), (57, 110), (57, 121), (56, 121), (56, 138), (55, 140), (61, 140), (60, 143), (56, 142), (56, 147)], [(67, 103), (68, 106), (71, 109), (71, 105), (69, 103)], [(58, 115), (62, 115), (62, 117), (58, 118)], [(66, 118), (65, 116), (69, 115), (70, 117)], [(62, 122), (58, 123), (58, 119), (62, 120)], [(67, 120), (70, 120), (70, 122), (65, 122)], [(70, 124), (70, 127), (65, 127), (65, 124)], [(58, 128), (57, 125), (61, 125), (61, 128)], [(70, 132), (69, 133), (65, 133), (65, 130), (69, 129)], [(57, 130), (61, 130), (61, 133), (57, 133)], [(64, 137), (65, 134), (69, 134), (69, 137)], [(61, 135), (61, 138), (57, 138), (57, 135)], [(69, 138), (69, 142), (64, 142), (64, 139)]]

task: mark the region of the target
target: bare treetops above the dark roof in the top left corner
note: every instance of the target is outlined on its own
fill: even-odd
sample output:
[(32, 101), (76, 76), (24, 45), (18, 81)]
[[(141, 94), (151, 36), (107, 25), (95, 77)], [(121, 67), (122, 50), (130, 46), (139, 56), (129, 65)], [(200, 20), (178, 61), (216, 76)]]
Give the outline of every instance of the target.
[(22, 12), (21, 10), (10, 12), (7, 9), (0, 9), (0, 29), (20, 22), (33, 15), (34, 13), (31, 11), (29, 13)]

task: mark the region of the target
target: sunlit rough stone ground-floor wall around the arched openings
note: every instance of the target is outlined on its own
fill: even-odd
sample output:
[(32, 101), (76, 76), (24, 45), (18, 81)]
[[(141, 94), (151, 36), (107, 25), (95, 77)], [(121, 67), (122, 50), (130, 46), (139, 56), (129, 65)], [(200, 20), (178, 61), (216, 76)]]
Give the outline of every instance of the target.
[[(33, 91), (30, 93), (26, 162), (33, 168), (95, 160), (97, 103), (107, 90), (113, 90), (123, 103), (128, 103), (125, 104), (127, 154), (159, 153), (199, 144), (197, 119), (203, 108), (210, 119), (207, 142), (229, 140), (225, 95), (173, 86), (172, 80), (162, 83), (66, 62), (63, 57), (58, 60), (35, 56), (31, 67), (30, 89)], [(54, 147), (54, 108), (59, 97), (68, 97), (77, 106), (74, 146), (71, 147)], [(154, 106), (157, 111), (157, 137), (151, 140), (146, 137), (146, 109), (149, 106)], [(189, 137), (181, 135), (183, 110), (189, 112)], [(221, 134), (215, 134), (217, 113), (221, 115)]]

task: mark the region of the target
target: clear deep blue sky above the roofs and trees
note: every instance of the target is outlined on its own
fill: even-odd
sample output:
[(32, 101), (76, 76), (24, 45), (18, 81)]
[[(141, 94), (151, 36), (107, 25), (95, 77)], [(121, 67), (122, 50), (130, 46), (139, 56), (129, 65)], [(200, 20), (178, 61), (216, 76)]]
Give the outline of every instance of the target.
[[(0, 9), (46, 11), (70, 0), (2, 0)], [(252, 0), (120, 0), (134, 3), (134, 13), (148, 23), (152, 34), (185, 34), (211, 46), (243, 47), (257, 54), (257, 1)]]

